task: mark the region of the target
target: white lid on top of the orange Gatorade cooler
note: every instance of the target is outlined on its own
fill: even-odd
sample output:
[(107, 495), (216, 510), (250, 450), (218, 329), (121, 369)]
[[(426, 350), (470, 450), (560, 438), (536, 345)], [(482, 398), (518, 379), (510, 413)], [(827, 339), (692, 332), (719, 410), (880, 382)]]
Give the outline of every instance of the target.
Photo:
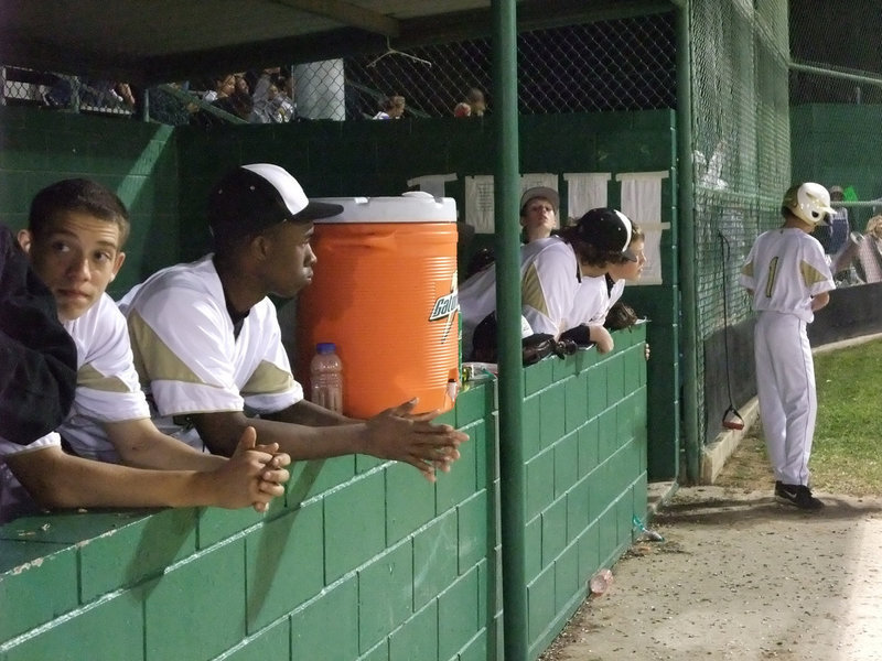
[(408, 191), (398, 197), (313, 197), (316, 202), (338, 204), (343, 213), (315, 220), (334, 223), (455, 223), (456, 201), (435, 197), (426, 191)]

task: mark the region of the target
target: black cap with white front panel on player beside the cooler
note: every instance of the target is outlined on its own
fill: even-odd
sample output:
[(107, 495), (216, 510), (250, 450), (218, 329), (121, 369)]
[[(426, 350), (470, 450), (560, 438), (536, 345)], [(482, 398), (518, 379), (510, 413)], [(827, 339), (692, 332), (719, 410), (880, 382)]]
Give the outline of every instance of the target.
[(338, 204), (309, 199), (287, 170), (271, 163), (236, 167), (208, 196), (208, 226), (215, 239), (245, 237), (279, 223), (309, 223), (341, 213)]

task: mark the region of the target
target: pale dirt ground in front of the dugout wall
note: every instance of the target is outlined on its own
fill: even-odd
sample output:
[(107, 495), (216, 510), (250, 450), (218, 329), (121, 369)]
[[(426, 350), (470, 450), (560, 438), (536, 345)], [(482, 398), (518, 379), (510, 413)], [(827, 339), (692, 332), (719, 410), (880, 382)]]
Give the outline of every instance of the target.
[(882, 660), (882, 498), (777, 505), (756, 447), (680, 488), (540, 660)]

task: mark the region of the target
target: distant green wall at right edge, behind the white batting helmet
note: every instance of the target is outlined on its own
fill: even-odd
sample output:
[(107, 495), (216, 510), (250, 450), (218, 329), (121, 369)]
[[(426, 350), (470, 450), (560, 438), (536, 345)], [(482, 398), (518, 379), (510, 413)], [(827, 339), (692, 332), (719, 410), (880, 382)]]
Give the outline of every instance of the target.
[[(882, 197), (882, 107), (811, 104), (790, 108), (793, 181), (853, 186), (861, 201)], [(851, 229), (863, 231), (871, 208), (849, 209)]]

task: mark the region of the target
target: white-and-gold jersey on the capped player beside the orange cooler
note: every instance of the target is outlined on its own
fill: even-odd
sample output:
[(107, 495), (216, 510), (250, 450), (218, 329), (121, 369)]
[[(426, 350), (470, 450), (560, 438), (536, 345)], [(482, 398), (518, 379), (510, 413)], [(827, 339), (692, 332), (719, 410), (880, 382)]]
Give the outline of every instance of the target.
[(191, 444), (187, 414), (271, 413), (303, 399), (272, 302), (251, 307), (236, 337), (212, 257), (159, 271), (121, 302), (154, 422)]

